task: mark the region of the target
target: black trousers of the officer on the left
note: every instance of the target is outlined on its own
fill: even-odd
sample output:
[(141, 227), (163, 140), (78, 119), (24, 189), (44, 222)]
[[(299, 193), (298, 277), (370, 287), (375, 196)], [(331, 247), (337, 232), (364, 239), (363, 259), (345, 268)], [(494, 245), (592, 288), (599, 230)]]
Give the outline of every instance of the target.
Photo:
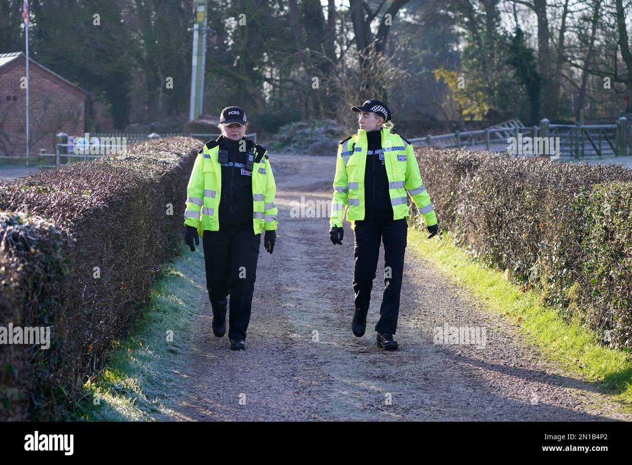
[(231, 339), (246, 338), (260, 243), (261, 234), (255, 234), (252, 223), (219, 231), (205, 230), (202, 237), (210, 305), (213, 315), (221, 321), (226, 318), (226, 297), (230, 295), (228, 337)]

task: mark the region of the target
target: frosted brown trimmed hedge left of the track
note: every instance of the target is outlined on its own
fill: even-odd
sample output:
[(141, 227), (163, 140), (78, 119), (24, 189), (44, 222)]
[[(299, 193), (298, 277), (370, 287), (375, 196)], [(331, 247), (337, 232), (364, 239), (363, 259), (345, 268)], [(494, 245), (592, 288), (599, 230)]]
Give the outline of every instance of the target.
[[(51, 347), (0, 345), (0, 419), (58, 419), (179, 250), (200, 141), (0, 183), (0, 325), (51, 326)], [(168, 204), (171, 204), (169, 206)]]

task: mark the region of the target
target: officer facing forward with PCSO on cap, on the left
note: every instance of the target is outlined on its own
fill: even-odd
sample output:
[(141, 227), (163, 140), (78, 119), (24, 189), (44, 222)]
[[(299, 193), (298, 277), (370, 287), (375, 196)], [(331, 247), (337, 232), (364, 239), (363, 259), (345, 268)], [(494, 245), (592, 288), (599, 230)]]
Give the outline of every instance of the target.
[(222, 110), (222, 134), (198, 152), (186, 188), (185, 241), (195, 251), (202, 237), (212, 330), (226, 333), (232, 350), (244, 350), (250, 322), (261, 231), (271, 254), (276, 240), (276, 184), (266, 149), (246, 139), (243, 108)]

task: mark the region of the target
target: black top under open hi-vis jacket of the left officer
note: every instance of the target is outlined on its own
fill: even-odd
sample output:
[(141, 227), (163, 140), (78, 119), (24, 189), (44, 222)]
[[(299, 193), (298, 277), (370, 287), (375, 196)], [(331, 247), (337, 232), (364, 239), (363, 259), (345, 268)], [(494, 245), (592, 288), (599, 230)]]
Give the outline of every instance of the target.
[(240, 152), (240, 140), (220, 136), (219, 149), (228, 150), (228, 163), (222, 166), (222, 196), (219, 199), (219, 228), (224, 226), (252, 227), (252, 171), (246, 170), (248, 152), (255, 149), (250, 139)]

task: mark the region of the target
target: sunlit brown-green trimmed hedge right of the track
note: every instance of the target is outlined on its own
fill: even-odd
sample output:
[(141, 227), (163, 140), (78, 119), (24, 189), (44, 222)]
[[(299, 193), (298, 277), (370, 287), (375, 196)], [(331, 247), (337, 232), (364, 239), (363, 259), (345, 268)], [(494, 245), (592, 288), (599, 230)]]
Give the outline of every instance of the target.
[(440, 227), (458, 245), (523, 289), (540, 288), (612, 347), (632, 348), (632, 170), (431, 147), (415, 154)]

